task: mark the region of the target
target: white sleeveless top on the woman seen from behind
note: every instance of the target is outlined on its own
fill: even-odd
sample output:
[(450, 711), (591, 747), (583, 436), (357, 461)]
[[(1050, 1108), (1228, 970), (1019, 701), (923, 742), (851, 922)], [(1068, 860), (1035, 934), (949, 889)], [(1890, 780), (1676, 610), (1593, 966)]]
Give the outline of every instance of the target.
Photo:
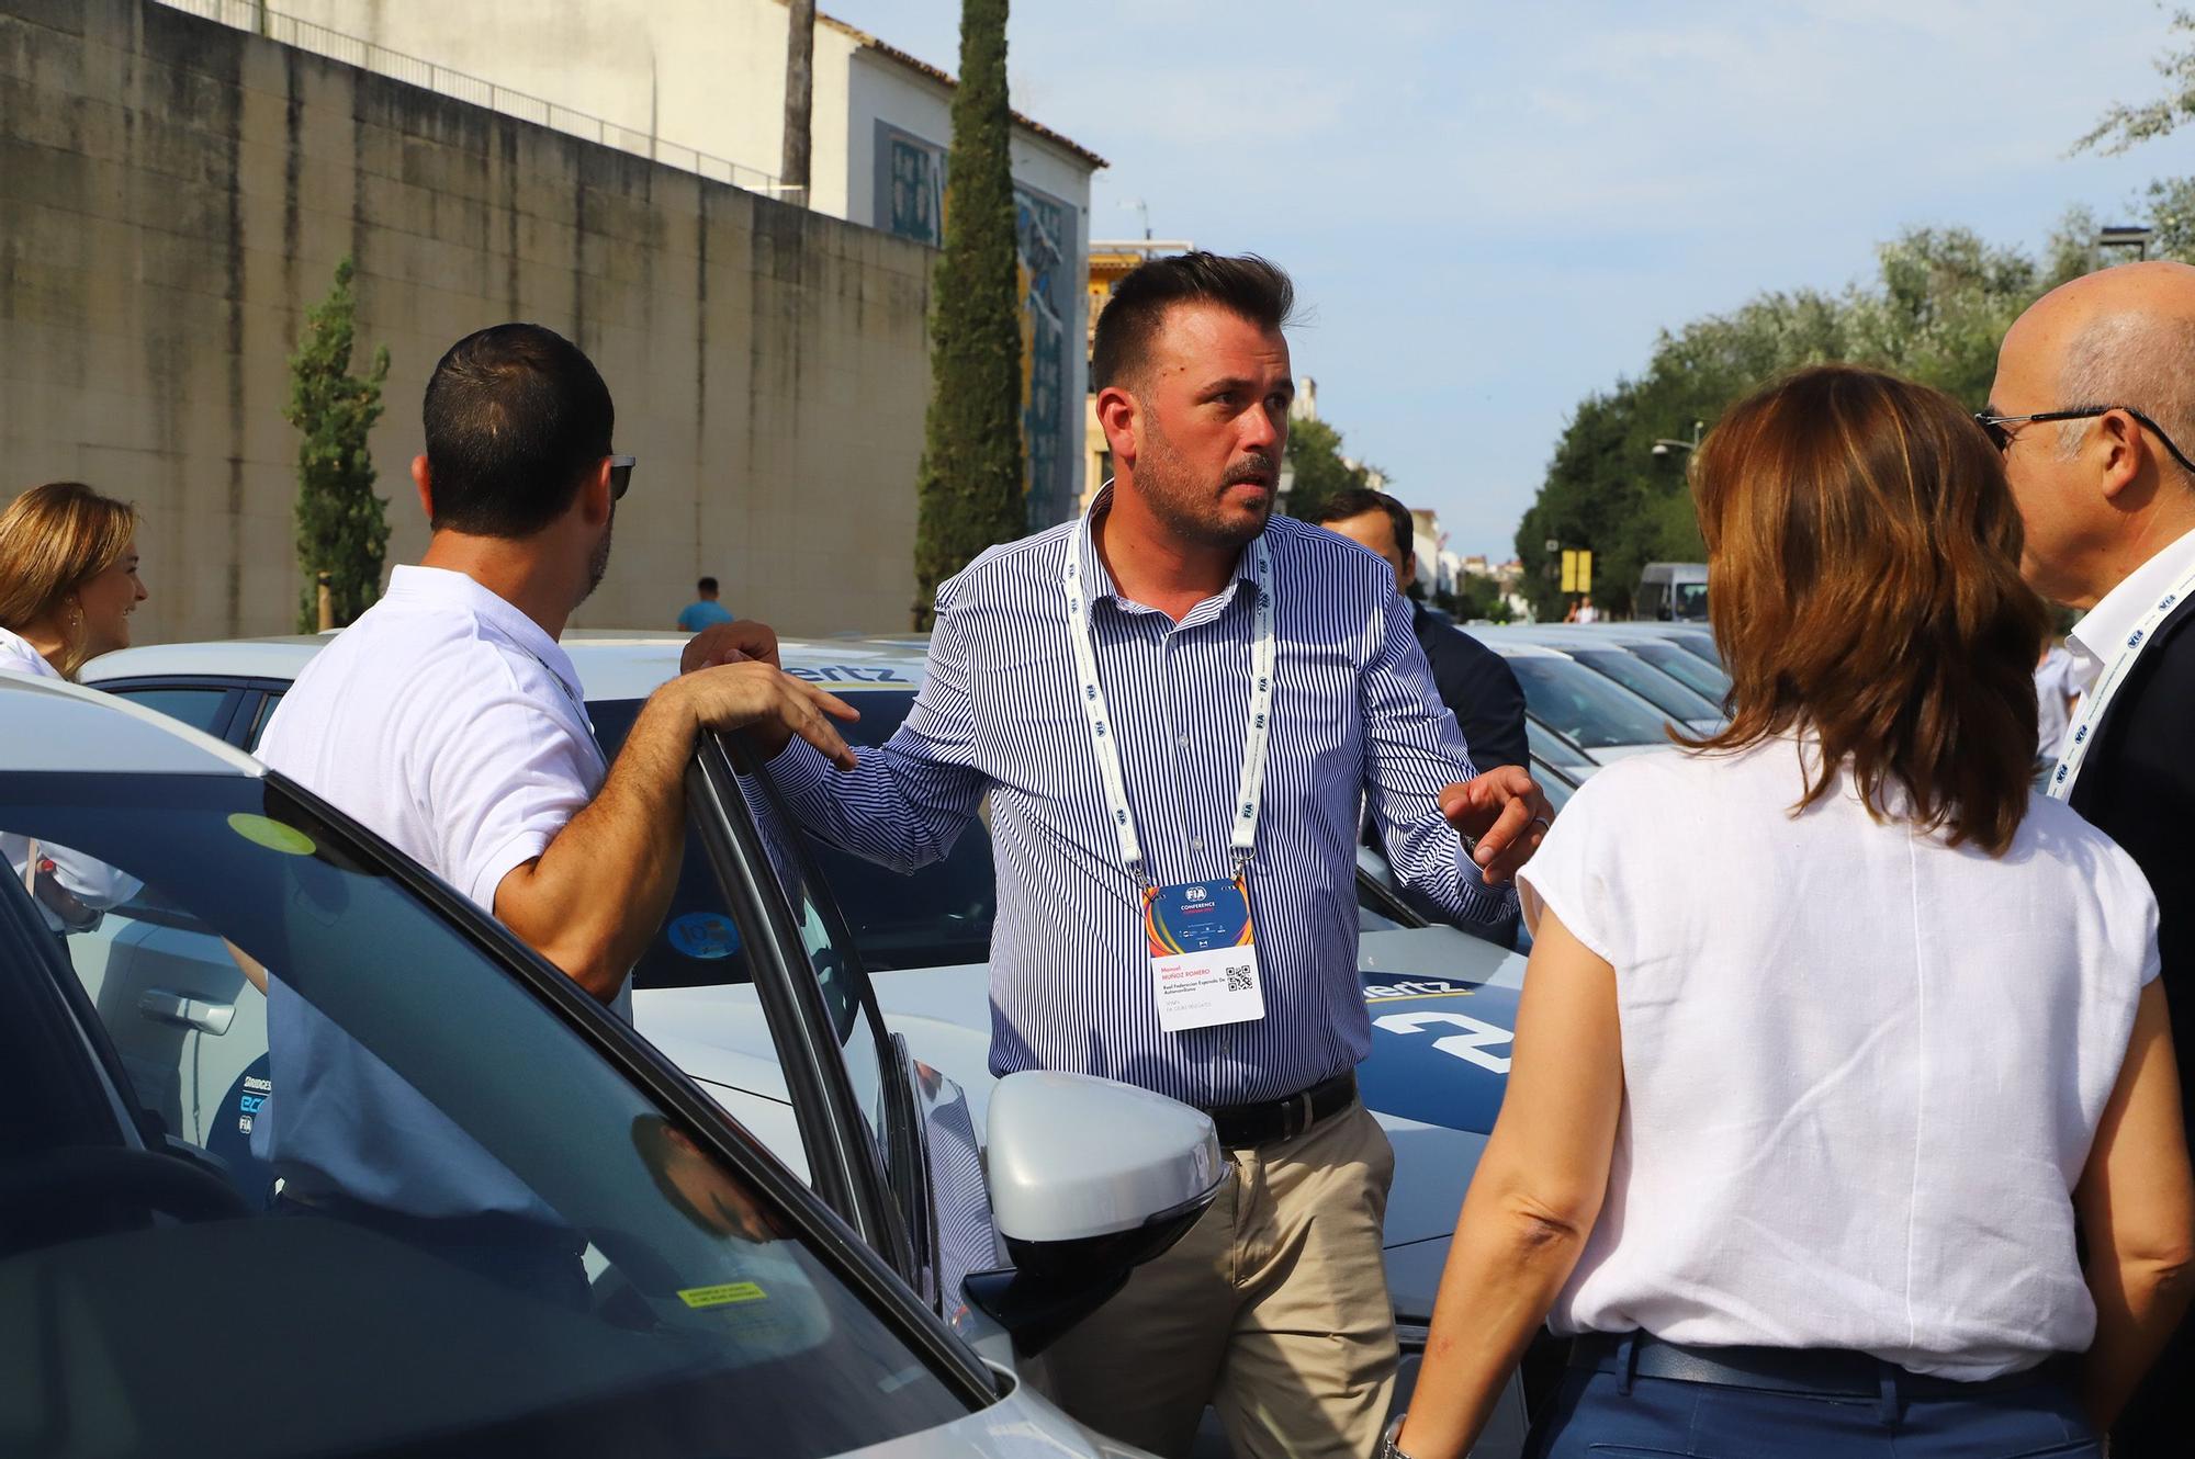
[(1965, 1380), (2081, 1351), (2070, 1191), (2158, 976), (2149, 882), (2044, 796), (2002, 858), (1850, 777), (1791, 816), (1802, 753), (1626, 759), (1519, 873), (1616, 968), (1624, 1049), (1550, 1323)]

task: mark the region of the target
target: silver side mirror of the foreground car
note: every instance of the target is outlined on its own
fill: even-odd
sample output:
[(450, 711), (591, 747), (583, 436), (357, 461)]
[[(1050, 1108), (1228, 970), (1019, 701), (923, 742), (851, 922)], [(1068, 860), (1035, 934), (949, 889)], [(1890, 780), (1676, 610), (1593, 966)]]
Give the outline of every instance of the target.
[(966, 1288), (1023, 1356), (1187, 1235), (1229, 1176), (1209, 1115), (1091, 1075), (1005, 1075), (986, 1145), (992, 1218), (1014, 1266), (975, 1273)]

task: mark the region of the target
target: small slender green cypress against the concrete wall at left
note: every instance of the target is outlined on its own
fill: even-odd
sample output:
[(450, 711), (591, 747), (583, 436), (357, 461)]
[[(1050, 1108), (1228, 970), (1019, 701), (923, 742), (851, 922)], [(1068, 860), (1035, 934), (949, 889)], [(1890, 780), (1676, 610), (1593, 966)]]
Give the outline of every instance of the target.
[(380, 595), (389, 555), (389, 502), (373, 496), (373, 452), (367, 434), (382, 419), (389, 347), (373, 351), (360, 380), (351, 373), (358, 296), (351, 259), (336, 265), (336, 285), (305, 312), (305, 333), (290, 355), (290, 404), (283, 419), (303, 437), (296, 448), (296, 566), (305, 573), (301, 632), (320, 625), (318, 575), (329, 577), (336, 623), (349, 623)]

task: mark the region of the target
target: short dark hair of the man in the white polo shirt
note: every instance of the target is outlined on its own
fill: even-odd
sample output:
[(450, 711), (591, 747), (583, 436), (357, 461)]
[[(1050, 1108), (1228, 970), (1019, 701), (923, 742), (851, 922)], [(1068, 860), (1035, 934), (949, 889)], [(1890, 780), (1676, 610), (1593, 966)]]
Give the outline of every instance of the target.
[(435, 531), (531, 538), (610, 454), (610, 388), (542, 325), (494, 325), (450, 347), (426, 382)]

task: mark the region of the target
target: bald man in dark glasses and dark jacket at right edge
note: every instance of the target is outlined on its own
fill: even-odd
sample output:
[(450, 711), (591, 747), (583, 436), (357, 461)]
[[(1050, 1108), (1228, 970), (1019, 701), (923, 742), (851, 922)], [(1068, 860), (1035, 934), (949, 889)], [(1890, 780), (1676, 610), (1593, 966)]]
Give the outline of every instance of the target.
[[(2026, 522), (2022, 570), (2083, 608), (2065, 645), (2081, 700), (2052, 796), (2134, 856), (2158, 895), (2180, 1090), (2195, 1090), (2195, 268), (2074, 279), (2004, 336), (1989, 408)], [(2008, 989), (2011, 992), (2011, 989)], [(2109, 1115), (2107, 1115), (2109, 1119)], [(2186, 1266), (2188, 1233), (2131, 1253)], [(2142, 1314), (2136, 1314), (2138, 1319)], [(2195, 1332), (2182, 1327), (2114, 1430), (2118, 1459), (2184, 1455)]]

